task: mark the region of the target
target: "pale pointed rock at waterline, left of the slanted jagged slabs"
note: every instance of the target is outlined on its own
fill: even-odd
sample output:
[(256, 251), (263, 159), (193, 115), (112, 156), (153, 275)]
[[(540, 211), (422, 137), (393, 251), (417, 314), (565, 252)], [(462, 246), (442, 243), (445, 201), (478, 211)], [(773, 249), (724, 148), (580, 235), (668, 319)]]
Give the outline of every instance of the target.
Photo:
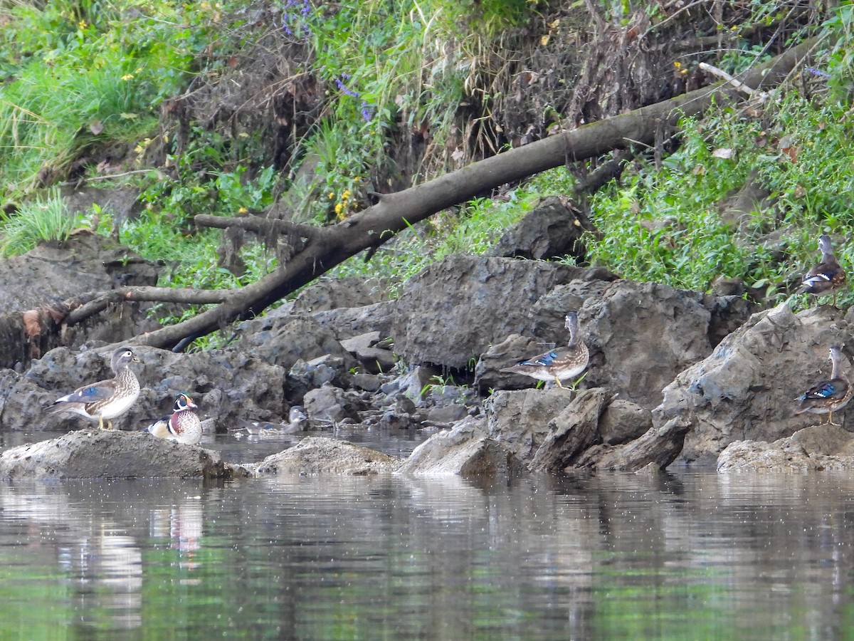
[(436, 432), (418, 445), (397, 469), (410, 476), (462, 476), (510, 479), (524, 466), (483, 432), (474, 419), (461, 421), (452, 430)]

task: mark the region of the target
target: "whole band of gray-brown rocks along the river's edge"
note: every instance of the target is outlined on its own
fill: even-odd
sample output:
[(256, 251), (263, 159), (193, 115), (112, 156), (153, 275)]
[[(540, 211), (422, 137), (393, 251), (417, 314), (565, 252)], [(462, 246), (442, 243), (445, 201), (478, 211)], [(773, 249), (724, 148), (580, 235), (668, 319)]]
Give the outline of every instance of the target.
[[(404, 461), (309, 436), (254, 463), (257, 474), (509, 479), (671, 464), (817, 470), (845, 468), (854, 453), (844, 428), (820, 429), (823, 417), (792, 413), (793, 399), (827, 378), (828, 346), (852, 342), (851, 318), (837, 309), (795, 314), (781, 305), (754, 313), (755, 304), (737, 297), (480, 256), (448, 257), (413, 279), (399, 300), (377, 291), (352, 281), (313, 285), (297, 301), (241, 323), (239, 339), (222, 350), (134, 347), (142, 392), (115, 425), (138, 432), (185, 392), (220, 433), (284, 430), (299, 404), (307, 414), (300, 436), (347, 426), (412, 430), (424, 441)], [(536, 389), (533, 379), (500, 372), (565, 344), (570, 310), (590, 350), (575, 385)], [(111, 378), (113, 349), (91, 340), (51, 350), (20, 371), (0, 369), (0, 430), (88, 427), (82, 417), (43, 410), (80, 385)], [(845, 372), (852, 355), (847, 348)], [(854, 427), (845, 410), (834, 419)], [(8, 450), (0, 470), (9, 470), (7, 478), (97, 478), (227, 477), (238, 469), (213, 454), (205, 455), (210, 461), (198, 452), (187, 461), (164, 457), (152, 448), (180, 446), (136, 433), (72, 433), (81, 436)], [(157, 462), (146, 467), (149, 459)]]

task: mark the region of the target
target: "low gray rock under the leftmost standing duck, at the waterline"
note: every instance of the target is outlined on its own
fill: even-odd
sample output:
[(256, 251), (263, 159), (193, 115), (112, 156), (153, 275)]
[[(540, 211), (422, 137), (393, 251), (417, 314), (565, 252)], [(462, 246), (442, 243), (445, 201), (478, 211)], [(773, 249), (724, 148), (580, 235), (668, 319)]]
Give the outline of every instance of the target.
[(246, 476), (217, 452), (154, 438), (143, 432), (69, 432), (0, 454), (0, 479), (138, 479)]

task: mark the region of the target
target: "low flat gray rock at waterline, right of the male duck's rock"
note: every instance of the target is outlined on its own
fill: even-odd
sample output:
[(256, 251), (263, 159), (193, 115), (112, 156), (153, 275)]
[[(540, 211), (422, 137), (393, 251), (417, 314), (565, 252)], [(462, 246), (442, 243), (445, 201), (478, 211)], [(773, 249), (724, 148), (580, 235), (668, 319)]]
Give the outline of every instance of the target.
[(401, 459), (335, 438), (307, 437), (289, 450), (267, 456), (255, 472), (267, 474), (367, 474), (390, 473)]

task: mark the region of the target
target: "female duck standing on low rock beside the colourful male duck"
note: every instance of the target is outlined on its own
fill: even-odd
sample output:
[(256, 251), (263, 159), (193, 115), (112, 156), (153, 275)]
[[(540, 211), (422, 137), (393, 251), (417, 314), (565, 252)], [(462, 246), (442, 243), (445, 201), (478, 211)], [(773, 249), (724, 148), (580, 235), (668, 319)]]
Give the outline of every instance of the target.
[(124, 415), (139, 397), (139, 381), (129, 367), (132, 362), (140, 362), (133, 350), (120, 347), (110, 360), (110, 368), (115, 373), (113, 379), (84, 385), (57, 398), (48, 409), (50, 412), (73, 412), (87, 419), (97, 419), (100, 429), (107, 420), (108, 429), (113, 429), (113, 419)]

